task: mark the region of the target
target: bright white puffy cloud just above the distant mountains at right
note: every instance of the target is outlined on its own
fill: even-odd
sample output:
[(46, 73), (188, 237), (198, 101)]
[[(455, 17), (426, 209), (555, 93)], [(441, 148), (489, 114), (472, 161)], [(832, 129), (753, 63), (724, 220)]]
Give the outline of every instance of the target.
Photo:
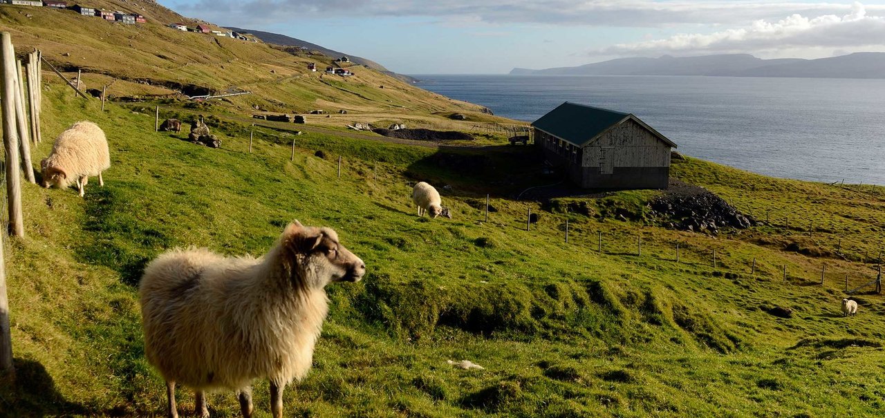
[(813, 50), (820, 55), (825, 49), (885, 49), (885, 18), (871, 16), (863, 4), (855, 3), (842, 16), (825, 14), (807, 18), (794, 13), (778, 21), (758, 19), (746, 27), (712, 34), (676, 34), (665, 39), (620, 43), (594, 50), (591, 55), (750, 52), (763, 56), (785, 53), (796, 56), (799, 50)]

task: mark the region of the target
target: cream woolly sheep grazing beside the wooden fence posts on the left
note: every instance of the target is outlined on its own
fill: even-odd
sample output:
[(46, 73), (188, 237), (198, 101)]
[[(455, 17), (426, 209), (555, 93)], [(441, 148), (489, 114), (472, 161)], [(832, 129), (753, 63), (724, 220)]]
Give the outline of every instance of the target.
[(58, 135), (50, 156), (40, 162), (43, 186), (67, 188), (76, 181), (82, 197), (89, 176), (98, 176), (104, 186), (102, 171), (111, 167), (111, 153), (104, 131), (98, 125), (83, 120)]

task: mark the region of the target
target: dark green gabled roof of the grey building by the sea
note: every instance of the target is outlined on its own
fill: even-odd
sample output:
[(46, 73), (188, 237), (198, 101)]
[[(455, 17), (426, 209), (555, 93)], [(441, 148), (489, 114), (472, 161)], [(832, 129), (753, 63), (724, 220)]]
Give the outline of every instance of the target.
[(667, 145), (676, 147), (673, 141), (668, 140), (631, 113), (595, 108), (578, 103), (562, 103), (556, 109), (550, 110), (546, 115), (535, 120), (532, 125), (578, 147), (583, 147), (611, 129), (612, 126), (627, 119), (635, 120), (636, 123), (643, 125)]

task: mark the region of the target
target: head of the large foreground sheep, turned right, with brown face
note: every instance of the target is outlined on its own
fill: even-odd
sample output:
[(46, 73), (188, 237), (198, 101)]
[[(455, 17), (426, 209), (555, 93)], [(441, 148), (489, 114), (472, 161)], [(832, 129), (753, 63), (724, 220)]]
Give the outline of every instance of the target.
[(283, 232), (289, 254), (297, 262), (293, 273), (310, 287), (330, 282), (358, 282), (366, 274), (366, 263), (338, 242), (338, 234), (329, 228), (304, 226), (298, 221)]

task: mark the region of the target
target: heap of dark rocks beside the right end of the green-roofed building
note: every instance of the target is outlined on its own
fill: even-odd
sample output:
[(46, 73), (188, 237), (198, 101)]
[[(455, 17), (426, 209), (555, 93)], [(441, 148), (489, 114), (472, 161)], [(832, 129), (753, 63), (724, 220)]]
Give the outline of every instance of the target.
[(652, 216), (670, 221), (666, 226), (682, 231), (716, 233), (720, 228), (746, 229), (756, 224), (753, 218), (706, 190), (664, 194), (651, 201), (650, 209)]

